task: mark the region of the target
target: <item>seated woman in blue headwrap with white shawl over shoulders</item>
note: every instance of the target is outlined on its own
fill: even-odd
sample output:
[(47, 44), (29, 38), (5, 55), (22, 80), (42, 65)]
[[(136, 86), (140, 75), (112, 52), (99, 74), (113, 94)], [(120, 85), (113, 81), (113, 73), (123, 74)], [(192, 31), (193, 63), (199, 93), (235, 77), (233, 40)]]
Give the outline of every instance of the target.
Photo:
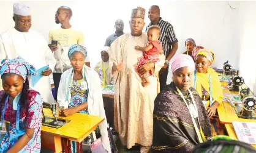
[[(106, 118), (100, 79), (96, 71), (85, 65), (86, 55), (87, 51), (84, 46), (73, 44), (69, 48), (68, 57), (72, 68), (67, 69), (61, 75), (58, 102), (63, 108), (60, 115), (85, 113)], [(111, 152), (106, 119), (99, 125), (99, 130), (104, 148)], [(75, 148), (76, 145), (72, 142), (72, 152), (76, 151)]]

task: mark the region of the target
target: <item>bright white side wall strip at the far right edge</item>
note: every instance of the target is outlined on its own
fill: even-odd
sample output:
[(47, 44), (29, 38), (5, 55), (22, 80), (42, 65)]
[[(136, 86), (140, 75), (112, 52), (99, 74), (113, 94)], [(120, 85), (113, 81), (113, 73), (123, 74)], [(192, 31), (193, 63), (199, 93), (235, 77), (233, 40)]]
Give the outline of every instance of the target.
[(256, 94), (256, 2), (243, 2), (240, 4), (239, 21), (239, 50), (240, 62), (239, 69), (241, 69), (241, 76), (244, 77), (246, 84)]

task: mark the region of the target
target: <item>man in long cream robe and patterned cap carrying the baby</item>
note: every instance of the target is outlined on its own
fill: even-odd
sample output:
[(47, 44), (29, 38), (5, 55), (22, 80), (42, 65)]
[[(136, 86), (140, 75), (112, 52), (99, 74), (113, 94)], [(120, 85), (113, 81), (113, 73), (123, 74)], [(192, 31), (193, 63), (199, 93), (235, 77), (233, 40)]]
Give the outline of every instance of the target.
[(152, 144), (154, 99), (159, 93), (159, 70), (164, 66), (165, 56), (160, 62), (146, 63), (138, 73), (145, 74), (154, 70), (149, 76), (150, 85), (143, 87), (141, 78), (135, 72), (134, 65), (143, 52), (136, 51), (135, 46), (145, 46), (147, 35), (142, 34), (145, 26), (145, 9), (138, 7), (132, 10), (130, 34), (121, 35), (108, 50), (110, 62), (115, 73), (114, 120), (115, 130), (124, 146), (132, 148), (140, 144), (140, 152), (148, 152)]

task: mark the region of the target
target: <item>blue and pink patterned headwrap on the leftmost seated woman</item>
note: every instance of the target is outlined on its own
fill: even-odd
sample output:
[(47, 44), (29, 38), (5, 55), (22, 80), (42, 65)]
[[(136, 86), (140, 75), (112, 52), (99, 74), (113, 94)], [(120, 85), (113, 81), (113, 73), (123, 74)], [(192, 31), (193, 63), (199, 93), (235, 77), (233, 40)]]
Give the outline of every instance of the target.
[(27, 76), (36, 75), (37, 70), (29, 64), (28, 62), (24, 61), (20, 56), (16, 59), (5, 59), (2, 60), (0, 66), (0, 74), (1, 76), (6, 73), (15, 73), (23, 77), (26, 80)]

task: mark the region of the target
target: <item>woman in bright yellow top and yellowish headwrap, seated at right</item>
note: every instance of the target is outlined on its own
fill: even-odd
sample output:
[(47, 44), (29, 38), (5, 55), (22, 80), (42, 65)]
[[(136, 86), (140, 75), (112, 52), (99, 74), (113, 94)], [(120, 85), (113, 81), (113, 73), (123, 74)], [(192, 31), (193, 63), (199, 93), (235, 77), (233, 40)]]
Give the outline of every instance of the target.
[(209, 49), (198, 49), (193, 52), (195, 60), (194, 88), (201, 98), (206, 101), (206, 109), (209, 118), (216, 113), (216, 109), (223, 99), (218, 74), (211, 68), (215, 55)]

